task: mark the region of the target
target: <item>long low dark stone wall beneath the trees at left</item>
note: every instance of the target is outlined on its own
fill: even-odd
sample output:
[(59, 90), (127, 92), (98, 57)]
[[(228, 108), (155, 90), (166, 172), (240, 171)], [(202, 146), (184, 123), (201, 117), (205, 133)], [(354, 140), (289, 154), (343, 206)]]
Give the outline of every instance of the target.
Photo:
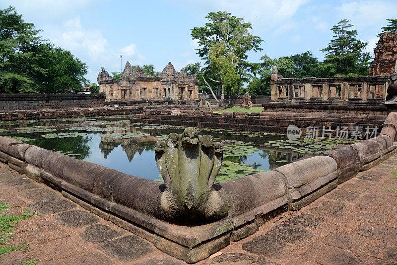
[(0, 110), (103, 107), (104, 94), (2, 93)]

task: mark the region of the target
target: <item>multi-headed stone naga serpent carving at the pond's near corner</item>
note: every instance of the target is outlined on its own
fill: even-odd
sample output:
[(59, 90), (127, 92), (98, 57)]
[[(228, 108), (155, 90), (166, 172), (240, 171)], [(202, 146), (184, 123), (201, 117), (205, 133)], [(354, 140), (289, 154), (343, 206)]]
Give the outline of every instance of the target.
[(199, 223), (227, 216), (227, 197), (213, 183), (222, 165), (223, 147), (211, 135), (189, 127), (155, 144), (156, 164), (164, 179), (161, 210), (173, 222)]

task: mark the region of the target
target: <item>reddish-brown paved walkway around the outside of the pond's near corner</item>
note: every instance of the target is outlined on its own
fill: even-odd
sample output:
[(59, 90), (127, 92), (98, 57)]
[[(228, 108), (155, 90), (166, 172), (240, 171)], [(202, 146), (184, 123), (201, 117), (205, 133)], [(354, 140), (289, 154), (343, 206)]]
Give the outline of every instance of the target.
[[(29, 248), (0, 256), (0, 264), (185, 264), (0, 166), (0, 201), (14, 206), (3, 213), (39, 212), (20, 221), (9, 241)], [(397, 264), (396, 169), (397, 155), (199, 264)]]

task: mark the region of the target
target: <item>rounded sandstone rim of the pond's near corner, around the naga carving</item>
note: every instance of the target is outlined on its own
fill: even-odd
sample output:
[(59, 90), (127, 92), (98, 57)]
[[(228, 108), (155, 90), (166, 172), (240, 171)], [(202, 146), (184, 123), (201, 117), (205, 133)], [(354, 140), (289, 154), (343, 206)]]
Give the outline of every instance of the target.
[(65, 197), (153, 242), (163, 252), (195, 263), (230, 241), (255, 233), (270, 217), (287, 209), (297, 210), (359, 171), (386, 160), (396, 151), (396, 127), (397, 113), (392, 112), (377, 138), (218, 184), (215, 188), (228, 196), (227, 218), (193, 227), (162, 221), (158, 206), (164, 184), (6, 137), (0, 137), (0, 161), (57, 187)]

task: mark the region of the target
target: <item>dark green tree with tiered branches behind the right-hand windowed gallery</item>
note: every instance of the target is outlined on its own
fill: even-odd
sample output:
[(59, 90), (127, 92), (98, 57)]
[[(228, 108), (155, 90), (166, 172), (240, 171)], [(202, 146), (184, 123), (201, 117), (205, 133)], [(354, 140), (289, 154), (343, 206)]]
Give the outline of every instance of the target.
[(323, 77), (367, 75), (369, 52), (364, 52), (367, 42), (356, 39), (357, 30), (350, 29), (353, 25), (347, 19), (340, 20), (332, 27), (335, 34), (327, 48), (326, 59), (317, 69)]

